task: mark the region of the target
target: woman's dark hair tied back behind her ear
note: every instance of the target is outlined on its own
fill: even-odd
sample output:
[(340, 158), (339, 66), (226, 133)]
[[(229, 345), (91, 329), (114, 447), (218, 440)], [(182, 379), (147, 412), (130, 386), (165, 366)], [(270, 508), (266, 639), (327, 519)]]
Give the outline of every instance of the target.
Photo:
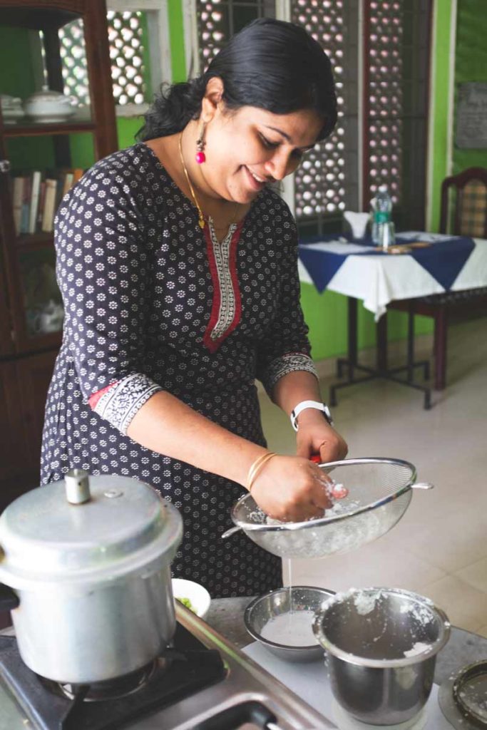
[(337, 97), (328, 56), (300, 26), (261, 18), (234, 35), (196, 79), (162, 88), (137, 139), (176, 134), (199, 118), (207, 83), (223, 80), (226, 107), (260, 107), (274, 114), (304, 109), (323, 118), (318, 139), (337, 121)]

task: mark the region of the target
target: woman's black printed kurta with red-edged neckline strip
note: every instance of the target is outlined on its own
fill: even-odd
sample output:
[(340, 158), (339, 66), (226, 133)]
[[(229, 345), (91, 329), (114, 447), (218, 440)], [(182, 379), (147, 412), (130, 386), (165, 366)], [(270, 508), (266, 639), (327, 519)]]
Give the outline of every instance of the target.
[(99, 161), (55, 221), (65, 321), (47, 396), (42, 483), (73, 467), (147, 482), (183, 515), (172, 564), (213, 597), (281, 585), (280, 559), (239, 533), (223, 541), (240, 485), (161, 456), (126, 436), (166, 390), (264, 445), (254, 380), (267, 391), (314, 372), (299, 307), (294, 220), (262, 191), (218, 243), (147, 145)]

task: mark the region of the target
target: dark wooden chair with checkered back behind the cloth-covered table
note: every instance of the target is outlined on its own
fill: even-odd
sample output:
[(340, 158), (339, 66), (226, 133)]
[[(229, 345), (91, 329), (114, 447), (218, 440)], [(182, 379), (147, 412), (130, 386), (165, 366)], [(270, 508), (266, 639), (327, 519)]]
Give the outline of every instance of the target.
[[(487, 169), (469, 167), (458, 175), (445, 177), (441, 187), (440, 233), (487, 239)], [(394, 301), (389, 306), (408, 312), (410, 339), (414, 337), (414, 315), (434, 319), (434, 388), (441, 391), (446, 385), (448, 323), (464, 315), (486, 314), (487, 286)], [(412, 356), (413, 342), (408, 345)]]

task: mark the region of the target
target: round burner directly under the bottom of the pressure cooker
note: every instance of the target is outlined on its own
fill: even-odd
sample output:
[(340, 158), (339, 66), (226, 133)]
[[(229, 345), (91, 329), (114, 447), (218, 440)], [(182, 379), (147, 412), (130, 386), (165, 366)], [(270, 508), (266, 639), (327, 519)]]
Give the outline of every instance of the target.
[(156, 671), (164, 672), (167, 664), (168, 660), (161, 656), (151, 661), (150, 664), (142, 666), (142, 669), (136, 669), (135, 672), (130, 672), (128, 675), (104, 680), (104, 682), (93, 682), (89, 685), (62, 684), (44, 677), (40, 677), (40, 679), (50, 692), (58, 696), (68, 699), (82, 698), (83, 702), (103, 702), (109, 699), (120, 699), (120, 697), (138, 692), (150, 682)]

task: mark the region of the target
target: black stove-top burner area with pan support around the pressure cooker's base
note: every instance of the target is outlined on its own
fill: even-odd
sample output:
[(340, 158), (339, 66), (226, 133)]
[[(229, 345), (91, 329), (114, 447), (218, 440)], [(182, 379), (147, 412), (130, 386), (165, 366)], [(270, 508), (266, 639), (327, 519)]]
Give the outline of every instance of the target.
[[(174, 645), (174, 649), (164, 653), (162, 661), (156, 660), (113, 683), (71, 685), (70, 699), (57, 683), (50, 683), (47, 688), (48, 680), (23, 663), (15, 638), (2, 636), (0, 676), (39, 730), (120, 730), (126, 723), (180, 702), (226, 676), (218, 650), (208, 649), (180, 623)], [(107, 691), (113, 694), (100, 696), (100, 692)], [(87, 702), (83, 702), (85, 698)]]

